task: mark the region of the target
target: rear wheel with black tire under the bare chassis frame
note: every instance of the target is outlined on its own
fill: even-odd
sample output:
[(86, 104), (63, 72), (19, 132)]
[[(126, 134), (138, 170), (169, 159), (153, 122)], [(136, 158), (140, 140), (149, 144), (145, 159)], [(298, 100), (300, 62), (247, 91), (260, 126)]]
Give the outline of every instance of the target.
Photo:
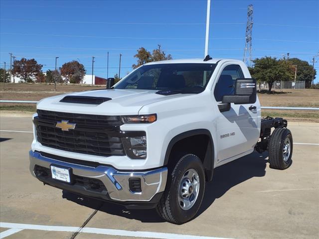
[(269, 144), (269, 163), (274, 169), (286, 169), (292, 164), (293, 136), (288, 128), (276, 128)]

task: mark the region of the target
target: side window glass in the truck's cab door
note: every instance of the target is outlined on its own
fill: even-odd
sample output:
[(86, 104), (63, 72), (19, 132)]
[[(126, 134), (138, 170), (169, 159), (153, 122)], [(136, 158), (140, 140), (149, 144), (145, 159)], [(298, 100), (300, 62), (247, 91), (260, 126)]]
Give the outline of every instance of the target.
[(214, 89), (217, 102), (220, 102), (223, 96), (234, 95), (234, 83), (238, 78), (244, 78), (239, 65), (228, 65), (223, 69)]

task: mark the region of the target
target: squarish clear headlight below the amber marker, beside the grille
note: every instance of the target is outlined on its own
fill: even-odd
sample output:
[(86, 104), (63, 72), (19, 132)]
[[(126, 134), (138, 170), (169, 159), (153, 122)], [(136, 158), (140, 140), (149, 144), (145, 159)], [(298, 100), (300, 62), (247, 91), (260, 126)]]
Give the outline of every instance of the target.
[(122, 140), (130, 158), (146, 158), (146, 136), (125, 137)]

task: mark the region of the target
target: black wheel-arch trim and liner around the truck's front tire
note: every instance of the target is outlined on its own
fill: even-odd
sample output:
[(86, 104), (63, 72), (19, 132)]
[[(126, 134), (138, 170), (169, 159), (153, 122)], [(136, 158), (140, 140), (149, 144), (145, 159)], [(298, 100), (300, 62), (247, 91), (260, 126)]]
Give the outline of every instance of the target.
[(208, 148), (207, 148), (205, 158), (203, 161), (203, 166), (205, 169), (206, 180), (211, 181), (213, 178), (213, 170), (214, 170), (214, 142), (213, 142), (213, 138), (211, 136), (211, 133), (208, 129), (193, 129), (193, 130), (189, 130), (189, 131), (186, 131), (186, 132), (183, 132), (183, 133), (180, 133), (180, 134), (177, 134), (176, 136), (174, 136), (170, 140), (168, 147), (166, 149), (164, 165), (168, 164), (168, 158), (169, 158), (171, 149), (173, 148), (175, 143), (177, 143), (178, 141), (180, 141), (184, 138), (188, 138), (190, 136), (195, 136), (195, 135), (200, 135), (200, 134), (204, 134), (204, 135), (207, 135), (209, 137), (209, 144), (208, 144)]

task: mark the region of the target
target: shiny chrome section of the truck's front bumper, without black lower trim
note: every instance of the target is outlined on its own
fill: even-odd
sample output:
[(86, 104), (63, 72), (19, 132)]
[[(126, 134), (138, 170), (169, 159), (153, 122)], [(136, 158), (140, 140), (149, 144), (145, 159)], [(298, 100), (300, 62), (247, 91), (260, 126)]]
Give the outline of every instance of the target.
[[(39, 165), (50, 168), (50, 165), (56, 164), (72, 168), (74, 175), (81, 177), (99, 179), (105, 185), (111, 199), (115, 201), (141, 201), (148, 202), (157, 193), (163, 192), (167, 179), (167, 168), (163, 167), (147, 172), (120, 172), (108, 166), (89, 167), (42, 156), (38, 152), (29, 152), (30, 172), (35, 176), (34, 166)], [(129, 178), (141, 178), (142, 192), (134, 193), (129, 188)]]

